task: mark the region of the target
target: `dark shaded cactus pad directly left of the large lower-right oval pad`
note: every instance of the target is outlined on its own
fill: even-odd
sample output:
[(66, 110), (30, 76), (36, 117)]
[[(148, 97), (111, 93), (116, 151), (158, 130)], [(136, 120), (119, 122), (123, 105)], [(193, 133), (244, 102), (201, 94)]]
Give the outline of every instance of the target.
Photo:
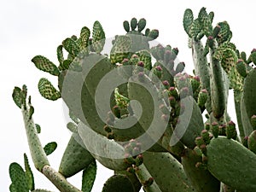
[(202, 162), (202, 157), (192, 149), (187, 149), (182, 157), (184, 172), (197, 192), (218, 192), (220, 182), (217, 178), (202, 167), (196, 167), (198, 162)]

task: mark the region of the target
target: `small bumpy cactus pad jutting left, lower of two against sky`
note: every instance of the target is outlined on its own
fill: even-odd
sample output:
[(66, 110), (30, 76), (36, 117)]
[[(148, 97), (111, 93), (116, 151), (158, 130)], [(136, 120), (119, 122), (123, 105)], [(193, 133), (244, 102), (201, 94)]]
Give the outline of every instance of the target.
[(39, 80), (38, 90), (45, 99), (55, 101), (61, 98), (61, 93), (55, 89), (48, 79), (42, 78)]

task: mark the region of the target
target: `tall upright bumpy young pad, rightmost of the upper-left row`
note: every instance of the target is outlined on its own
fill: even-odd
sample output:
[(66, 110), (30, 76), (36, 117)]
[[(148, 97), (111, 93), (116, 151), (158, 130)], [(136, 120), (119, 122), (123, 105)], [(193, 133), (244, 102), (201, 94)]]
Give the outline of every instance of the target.
[(95, 21), (92, 30), (92, 46), (96, 53), (101, 53), (105, 44), (105, 32), (99, 21)]

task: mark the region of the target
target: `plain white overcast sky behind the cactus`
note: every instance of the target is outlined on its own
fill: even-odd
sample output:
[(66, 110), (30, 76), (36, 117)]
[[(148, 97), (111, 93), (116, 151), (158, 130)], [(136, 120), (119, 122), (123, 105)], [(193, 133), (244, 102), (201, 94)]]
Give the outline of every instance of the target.
[[(35, 108), (34, 121), (41, 125), (39, 135), (44, 144), (55, 141), (59, 144), (49, 162), (56, 170), (66, 148), (70, 132), (66, 128), (61, 99), (46, 101), (38, 93), (38, 80), (42, 77), (57, 80), (49, 74), (38, 71), (31, 62), (35, 55), (44, 55), (58, 65), (55, 50), (62, 40), (73, 34), (79, 35), (83, 26), (92, 29), (99, 20), (107, 38), (125, 34), (124, 20), (145, 18), (150, 29), (160, 30), (157, 39), (161, 44), (171, 44), (179, 49), (178, 59), (186, 64), (186, 71), (193, 67), (191, 49), (188, 48), (187, 34), (183, 31), (183, 11), (190, 8), (197, 15), (201, 7), (214, 11), (214, 25), (227, 20), (233, 32), (232, 42), (247, 54), (256, 47), (255, 3), (253, 1), (61, 1), (61, 0), (9, 0), (0, 6), (0, 115), (1, 154), (0, 184), (2, 191), (9, 191), (9, 164), (18, 162), (23, 166), (23, 153), (31, 162), (36, 188), (57, 191), (32, 164), (26, 143), (26, 132), (19, 108), (12, 101), (14, 86), (26, 84)], [(230, 98), (233, 102), (233, 98)], [(235, 119), (234, 108), (229, 113)], [(98, 164), (99, 165), (99, 164)], [(99, 192), (103, 183), (113, 174), (102, 166), (98, 167), (93, 191)], [(81, 174), (68, 179), (81, 187)]]

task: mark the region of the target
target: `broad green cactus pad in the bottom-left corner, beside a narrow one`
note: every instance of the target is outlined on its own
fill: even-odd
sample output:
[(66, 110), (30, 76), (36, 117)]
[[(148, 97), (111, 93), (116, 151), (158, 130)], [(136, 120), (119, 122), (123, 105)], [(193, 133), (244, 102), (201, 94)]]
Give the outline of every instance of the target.
[(19, 192), (28, 192), (29, 185), (26, 178), (26, 173), (22, 167), (17, 163), (12, 163), (9, 166), (9, 177), (12, 181), (12, 190)]

